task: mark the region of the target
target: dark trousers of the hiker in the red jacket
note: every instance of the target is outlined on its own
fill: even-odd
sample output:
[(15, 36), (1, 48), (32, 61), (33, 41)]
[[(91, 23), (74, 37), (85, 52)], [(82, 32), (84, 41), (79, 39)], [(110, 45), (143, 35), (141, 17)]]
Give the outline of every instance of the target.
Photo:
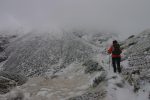
[(114, 68), (114, 72), (116, 73), (116, 71), (118, 70), (119, 73), (121, 73), (121, 68), (120, 68), (120, 61), (121, 58), (112, 58), (112, 66)]

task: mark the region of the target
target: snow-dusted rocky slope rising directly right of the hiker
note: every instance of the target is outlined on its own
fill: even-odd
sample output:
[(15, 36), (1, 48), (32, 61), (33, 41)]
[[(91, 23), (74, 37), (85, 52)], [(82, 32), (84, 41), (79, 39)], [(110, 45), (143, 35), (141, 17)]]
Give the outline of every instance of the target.
[[(150, 72), (150, 31), (145, 30), (139, 35), (130, 36), (123, 41), (123, 77), (134, 91), (131, 100), (149, 100), (149, 72)], [(132, 93), (133, 94), (133, 93)]]

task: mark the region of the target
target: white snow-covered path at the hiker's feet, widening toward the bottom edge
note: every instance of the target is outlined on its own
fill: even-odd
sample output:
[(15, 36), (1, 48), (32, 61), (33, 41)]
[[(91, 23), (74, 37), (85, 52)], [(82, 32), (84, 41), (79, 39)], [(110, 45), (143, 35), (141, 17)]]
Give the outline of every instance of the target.
[[(133, 86), (125, 82), (121, 75), (113, 72), (113, 68), (109, 64), (108, 55), (99, 54), (97, 60), (107, 71), (107, 79), (109, 79), (107, 81), (105, 100), (148, 100), (148, 93), (143, 91), (139, 91), (138, 94), (134, 93)], [(117, 84), (121, 84), (121, 86), (119, 87)]]

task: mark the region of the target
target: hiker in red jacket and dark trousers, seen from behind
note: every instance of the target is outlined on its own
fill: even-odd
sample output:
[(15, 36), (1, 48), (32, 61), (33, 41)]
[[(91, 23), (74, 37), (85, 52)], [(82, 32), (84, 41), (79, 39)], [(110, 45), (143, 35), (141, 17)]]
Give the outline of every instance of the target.
[[(108, 49), (108, 53), (112, 54), (112, 66), (114, 69), (114, 73), (118, 70), (119, 73), (121, 73), (121, 68), (120, 68), (120, 62), (121, 62), (121, 56), (120, 54), (122, 53), (120, 49), (120, 45), (116, 40), (113, 41), (112, 46)], [(117, 65), (117, 67), (116, 67)]]

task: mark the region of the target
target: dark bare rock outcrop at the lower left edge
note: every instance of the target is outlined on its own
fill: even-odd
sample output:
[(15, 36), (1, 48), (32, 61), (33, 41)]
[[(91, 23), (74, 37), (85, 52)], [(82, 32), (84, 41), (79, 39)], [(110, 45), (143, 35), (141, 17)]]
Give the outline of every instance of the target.
[(27, 78), (10, 72), (0, 72), (0, 94), (9, 92), (12, 88), (22, 85)]

